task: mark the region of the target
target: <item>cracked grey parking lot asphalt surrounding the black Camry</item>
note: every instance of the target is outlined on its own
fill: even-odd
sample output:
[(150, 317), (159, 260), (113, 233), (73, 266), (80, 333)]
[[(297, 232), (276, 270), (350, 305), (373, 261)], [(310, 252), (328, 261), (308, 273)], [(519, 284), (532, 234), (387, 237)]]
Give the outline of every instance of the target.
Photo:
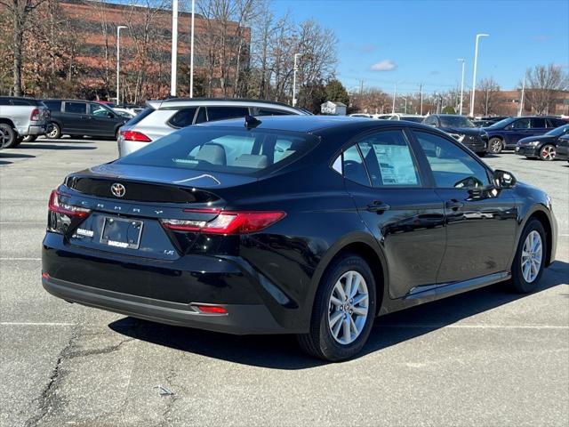
[(569, 424), (569, 164), (487, 157), (549, 192), (557, 262), (375, 322), (361, 357), (309, 359), (292, 336), (213, 334), (69, 304), (40, 282), (47, 197), (115, 141), (0, 151), (0, 425)]

